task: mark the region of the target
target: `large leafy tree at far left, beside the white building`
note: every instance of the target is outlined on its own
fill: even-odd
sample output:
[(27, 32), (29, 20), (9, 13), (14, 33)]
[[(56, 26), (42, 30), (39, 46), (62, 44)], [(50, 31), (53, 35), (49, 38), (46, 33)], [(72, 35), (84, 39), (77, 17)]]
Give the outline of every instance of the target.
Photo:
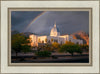
[[(18, 52), (24, 50), (24, 48), (28, 48), (28, 44), (30, 43), (28, 37), (25, 37), (22, 34), (14, 34), (11, 37), (11, 48), (16, 52), (16, 56)], [(27, 49), (28, 50), (28, 49)]]

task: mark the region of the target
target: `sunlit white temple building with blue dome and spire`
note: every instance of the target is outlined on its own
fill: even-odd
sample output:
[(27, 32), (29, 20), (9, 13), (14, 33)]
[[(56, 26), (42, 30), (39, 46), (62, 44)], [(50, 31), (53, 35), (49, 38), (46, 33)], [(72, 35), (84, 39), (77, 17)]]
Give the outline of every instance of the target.
[(57, 42), (59, 44), (64, 44), (66, 41), (73, 42), (75, 44), (83, 44), (83, 40), (73, 39), (70, 35), (60, 35), (60, 31), (54, 24), (54, 27), (51, 29), (50, 36), (38, 36), (31, 34), (29, 36), (31, 39), (31, 46), (39, 46), (40, 44)]

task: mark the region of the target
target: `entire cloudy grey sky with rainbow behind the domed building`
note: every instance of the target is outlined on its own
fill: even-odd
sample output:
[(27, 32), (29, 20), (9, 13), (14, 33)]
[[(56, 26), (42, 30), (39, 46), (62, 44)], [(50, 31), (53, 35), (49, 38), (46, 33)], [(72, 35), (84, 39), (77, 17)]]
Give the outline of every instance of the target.
[(88, 11), (12, 11), (11, 28), (19, 32), (49, 35), (56, 22), (60, 33), (89, 31)]

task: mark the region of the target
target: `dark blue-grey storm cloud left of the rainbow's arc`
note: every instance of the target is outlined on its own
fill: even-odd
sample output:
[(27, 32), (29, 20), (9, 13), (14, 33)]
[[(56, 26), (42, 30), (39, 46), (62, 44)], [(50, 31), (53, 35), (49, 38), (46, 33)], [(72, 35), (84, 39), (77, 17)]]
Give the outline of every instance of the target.
[(18, 30), (22, 32), (24, 28), (42, 11), (12, 11), (11, 12), (11, 24), (12, 30)]

